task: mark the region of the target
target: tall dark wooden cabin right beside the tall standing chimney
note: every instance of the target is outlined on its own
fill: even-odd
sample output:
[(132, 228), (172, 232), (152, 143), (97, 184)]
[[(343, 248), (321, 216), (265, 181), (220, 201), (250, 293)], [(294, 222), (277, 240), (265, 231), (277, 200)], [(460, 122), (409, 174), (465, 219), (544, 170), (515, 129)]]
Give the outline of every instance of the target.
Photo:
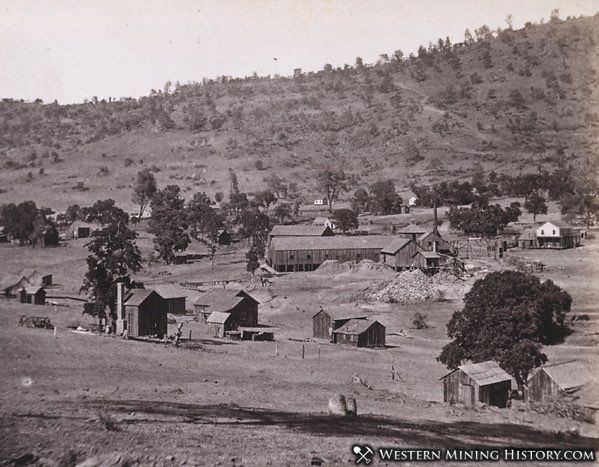
[(162, 338), (167, 332), (167, 304), (152, 289), (131, 289), (124, 298), (124, 313), (131, 337)]

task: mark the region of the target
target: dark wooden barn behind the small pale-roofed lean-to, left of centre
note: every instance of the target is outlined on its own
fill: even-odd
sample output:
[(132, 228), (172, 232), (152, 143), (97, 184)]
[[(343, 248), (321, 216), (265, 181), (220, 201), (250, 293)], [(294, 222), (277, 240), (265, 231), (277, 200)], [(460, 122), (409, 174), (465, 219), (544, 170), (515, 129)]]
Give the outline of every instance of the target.
[(207, 323), (208, 318), (214, 312), (218, 312), (232, 315), (233, 326), (256, 326), (258, 324), (259, 302), (243, 290), (210, 290), (203, 293), (193, 305), (198, 320), (202, 323)]

